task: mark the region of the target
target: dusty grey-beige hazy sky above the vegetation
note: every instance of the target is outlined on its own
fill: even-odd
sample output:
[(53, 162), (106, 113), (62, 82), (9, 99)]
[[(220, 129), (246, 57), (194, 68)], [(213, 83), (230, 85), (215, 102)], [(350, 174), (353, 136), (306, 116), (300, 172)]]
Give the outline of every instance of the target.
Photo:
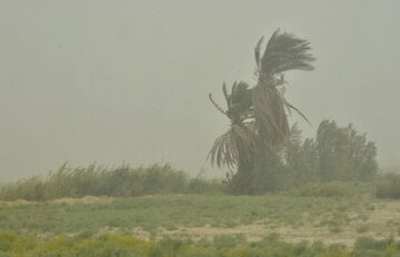
[[(311, 120), (353, 122), (381, 166), (400, 162), (400, 1), (0, 2), (0, 181), (91, 162), (171, 162), (190, 174), (228, 120), (221, 85), (253, 83), (277, 29), (311, 42), (316, 70), (288, 98)], [(223, 103), (222, 101), (220, 101)]]

